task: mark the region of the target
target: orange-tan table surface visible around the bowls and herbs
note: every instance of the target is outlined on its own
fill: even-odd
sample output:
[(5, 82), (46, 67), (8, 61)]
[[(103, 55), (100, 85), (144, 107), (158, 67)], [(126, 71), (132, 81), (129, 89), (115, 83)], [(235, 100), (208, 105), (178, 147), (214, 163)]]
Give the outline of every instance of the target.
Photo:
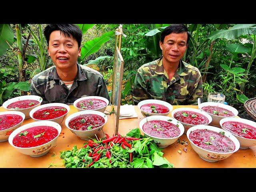
[[(126, 135), (133, 128), (139, 127), (139, 122), (144, 117), (140, 113), (137, 106), (135, 111), (138, 114), (138, 118), (128, 118), (119, 121), (119, 133), (121, 135)], [(198, 108), (198, 106), (173, 106), (173, 109), (189, 107)], [(108, 106), (106, 110), (110, 111), (111, 106)], [(6, 111), (3, 107), (0, 107), (0, 112)], [(77, 112), (78, 110), (74, 106), (70, 106), (70, 111), (67, 116)], [(106, 122), (103, 130), (97, 136), (103, 137), (104, 132), (108, 133), (110, 136), (114, 134), (114, 115), (107, 115), (108, 121)], [(168, 116), (172, 117), (171, 114)], [(66, 119), (66, 118), (65, 118)], [(51, 166), (51, 168), (64, 168), (64, 163), (60, 158), (60, 151), (72, 150), (72, 147), (76, 145), (81, 148), (86, 142), (81, 140), (75, 134), (73, 134), (66, 126), (65, 119), (60, 124), (62, 127), (61, 134), (50, 152), (46, 155), (33, 158), (28, 155), (21, 154), (15, 148), (13, 148), (8, 141), (0, 142), (0, 168), (48, 168), (50, 164), (57, 166)], [(34, 122), (32, 118), (26, 119), (24, 124)], [(164, 157), (174, 165), (176, 168), (255, 168), (256, 167), (256, 146), (252, 146), (248, 149), (239, 149), (237, 152), (232, 154), (230, 157), (220, 160), (218, 162), (206, 162), (202, 160), (196, 152), (192, 149), (186, 134), (180, 137), (180, 140), (185, 140), (188, 142), (187, 152), (183, 151), (185, 145), (178, 142), (168, 146), (162, 152), (164, 152)], [(177, 151), (182, 151), (179, 154)], [(54, 156), (55, 154), (55, 156)]]

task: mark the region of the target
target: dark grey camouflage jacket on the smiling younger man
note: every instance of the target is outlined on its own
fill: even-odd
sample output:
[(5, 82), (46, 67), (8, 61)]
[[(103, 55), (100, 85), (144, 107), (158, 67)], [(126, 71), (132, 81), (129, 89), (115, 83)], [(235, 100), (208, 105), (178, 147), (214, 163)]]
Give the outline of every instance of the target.
[(78, 71), (68, 90), (58, 76), (56, 67), (50, 67), (32, 78), (30, 94), (43, 98), (42, 104), (64, 103), (72, 105), (84, 96), (101, 96), (110, 100), (103, 76), (96, 70), (77, 65)]

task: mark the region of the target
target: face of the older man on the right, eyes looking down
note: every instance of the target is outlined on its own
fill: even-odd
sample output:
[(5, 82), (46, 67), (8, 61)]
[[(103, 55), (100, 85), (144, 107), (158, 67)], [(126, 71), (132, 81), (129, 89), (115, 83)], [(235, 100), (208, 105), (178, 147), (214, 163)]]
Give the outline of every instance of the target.
[(169, 63), (177, 63), (186, 52), (186, 43), (188, 40), (187, 32), (171, 33), (164, 37), (164, 42), (160, 41), (160, 48), (163, 57)]

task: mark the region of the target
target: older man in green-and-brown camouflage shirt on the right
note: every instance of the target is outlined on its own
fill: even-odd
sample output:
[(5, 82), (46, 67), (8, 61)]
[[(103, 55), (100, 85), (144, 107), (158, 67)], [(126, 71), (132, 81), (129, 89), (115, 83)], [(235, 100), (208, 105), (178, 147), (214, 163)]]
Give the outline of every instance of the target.
[(183, 62), (190, 33), (184, 24), (172, 24), (161, 34), (162, 57), (138, 69), (133, 88), (135, 104), (146, 99), (173, 105), (198, 104), (202, 97), (202, 76), (198, 68)]

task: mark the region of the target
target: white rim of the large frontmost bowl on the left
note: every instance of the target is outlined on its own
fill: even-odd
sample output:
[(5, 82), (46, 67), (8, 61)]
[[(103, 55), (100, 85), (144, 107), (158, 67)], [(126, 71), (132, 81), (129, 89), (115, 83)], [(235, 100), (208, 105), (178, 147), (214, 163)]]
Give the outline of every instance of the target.
[[(44, 122), (46, 122), (46, 121), (44, 121)], [(23, 131), (22, 128), (23, 128), (24, 126), (27, 126), (27, 125), (31, 125), (31, 127), (41, 126), (41, 125), (36, 125), (36, 124), (38, 124), (38, 123), (40, 123), (40, 121), (36, 121), (36, 122), (32, 122), (32, 123), (28, 123), (28, 124), (22, 125), (22, 126), (20, 126), (19, 128), (17, 128), (16, 130), (14, 130), (12, 133)], [(38, 145), (38, 146), (34, 146), (34, 147), (17, 147), (17, 146), (15, 146), (15, 145), (13, 144), (13, 138), (18, 134), (18, 133), (17, 133), (17, 134), (15, 134), (15, 136), (13, 136), (13, 138), (10, 137), (11, 135), (9, 136), (8, 141), (9, 141), (10, 145), (12, 145), (13, 147), (18, 148), (18, 149), (32, 149), (32, 148), (36, 148), (36, 147), (41, 147), (41, 146), (43, 146), (43, 145), (46, 145), (46, 144), (52, 142), (54, 139), (58, 138), (58, 136), (60, 135), (60, 132), (61, 132), (62, 128), (61, 128), (60, 124), (58, 124), (58, 123), (56, 123), (56, 122), (53, 122), (53, 121), (47, 121), (46, 123), (55, 124), (55, 125), (56, 125), (56, 127), (50, 126), (50, 127), (55, 128), (55, 129), (58, 131), (58, 135), (57, 135), (56, 137), (54, 137), (52, 140), (48, 141), (48, 142), (45, 143), (45, 144)], [(35, 124), (35, 125), (34, 125), (34, 124)], [(45, 125), (45, 126), (49, 126), (49, 125)], [(26, 129), (28, 129), (28, 128), (31, 128), (31, 127), (27, 127), (27, 128), (25, 128), (24, 130), (26, 130)], [(60, 129), (60, 130), (59, 130), (59, 129)], [(11, 133), (11, 134), (12, 134), (12, 133)], [(12, 138), (12, 140), (11, 140), (11, 138)], [(10, 140), (11, 140), (11, 142), (10, 142)]]

